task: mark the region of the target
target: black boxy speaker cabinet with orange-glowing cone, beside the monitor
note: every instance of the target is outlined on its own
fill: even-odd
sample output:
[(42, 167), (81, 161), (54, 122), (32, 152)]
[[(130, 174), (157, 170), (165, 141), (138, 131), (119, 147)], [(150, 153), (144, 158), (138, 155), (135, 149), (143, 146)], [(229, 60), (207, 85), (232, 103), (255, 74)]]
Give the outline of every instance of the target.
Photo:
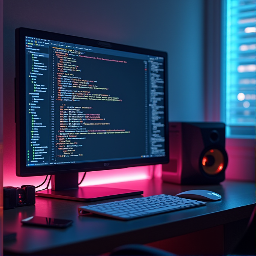
[(218, 184), (225, 179), (225, 124), (169, 123), (169, 158), (163, 181), (177, 184)]

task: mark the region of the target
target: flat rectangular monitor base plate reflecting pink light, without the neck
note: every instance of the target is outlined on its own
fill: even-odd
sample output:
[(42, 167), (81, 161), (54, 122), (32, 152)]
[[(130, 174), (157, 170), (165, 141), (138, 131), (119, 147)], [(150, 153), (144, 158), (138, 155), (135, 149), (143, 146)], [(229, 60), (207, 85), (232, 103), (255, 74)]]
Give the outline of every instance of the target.
[(142, 190), (117, 189), (112, 187), (86, 186), (68, 190), (42, 190), (35, 192), (40, 197), (66, 199), (72, 201), (93, 202), (111, 198), (128, 197), (143, 194)]

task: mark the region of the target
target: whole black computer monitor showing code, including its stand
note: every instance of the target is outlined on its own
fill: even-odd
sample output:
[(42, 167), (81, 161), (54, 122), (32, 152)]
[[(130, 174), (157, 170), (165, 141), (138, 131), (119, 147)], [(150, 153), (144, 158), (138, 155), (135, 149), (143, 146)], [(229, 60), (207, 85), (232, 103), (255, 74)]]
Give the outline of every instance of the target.
[(37, 195), (118, 197), (78, 188), (78, 173), (168, 162), (167, 53), (26, 28), (15, 38), (16, 174), (53, 175)]

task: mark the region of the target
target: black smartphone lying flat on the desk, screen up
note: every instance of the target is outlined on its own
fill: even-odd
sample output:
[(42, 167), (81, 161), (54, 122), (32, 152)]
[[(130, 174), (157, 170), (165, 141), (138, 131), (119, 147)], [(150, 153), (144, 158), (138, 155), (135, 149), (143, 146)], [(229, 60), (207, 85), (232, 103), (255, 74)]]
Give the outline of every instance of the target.
[(21, 223), (30, 226), (65, 228), (70, 226), (73, 223), (73, 221), (69, 219), (56, 219), (40, 216), (31, 216), (29, 218), (22, 219)]

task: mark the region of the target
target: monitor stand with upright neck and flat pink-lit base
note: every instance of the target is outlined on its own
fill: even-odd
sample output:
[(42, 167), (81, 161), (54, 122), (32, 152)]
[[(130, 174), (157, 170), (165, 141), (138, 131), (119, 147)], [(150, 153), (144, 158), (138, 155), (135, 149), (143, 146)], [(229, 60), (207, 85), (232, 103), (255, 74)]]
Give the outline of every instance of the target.
[(143, 194), (142, 190), (117, 189), (98, 186), (78, 186), (78, 172), (52, 175), (52, 189), (35, 193), (40, 197), (51, 197), (73, 201), (93, 202), (118, 197)]

